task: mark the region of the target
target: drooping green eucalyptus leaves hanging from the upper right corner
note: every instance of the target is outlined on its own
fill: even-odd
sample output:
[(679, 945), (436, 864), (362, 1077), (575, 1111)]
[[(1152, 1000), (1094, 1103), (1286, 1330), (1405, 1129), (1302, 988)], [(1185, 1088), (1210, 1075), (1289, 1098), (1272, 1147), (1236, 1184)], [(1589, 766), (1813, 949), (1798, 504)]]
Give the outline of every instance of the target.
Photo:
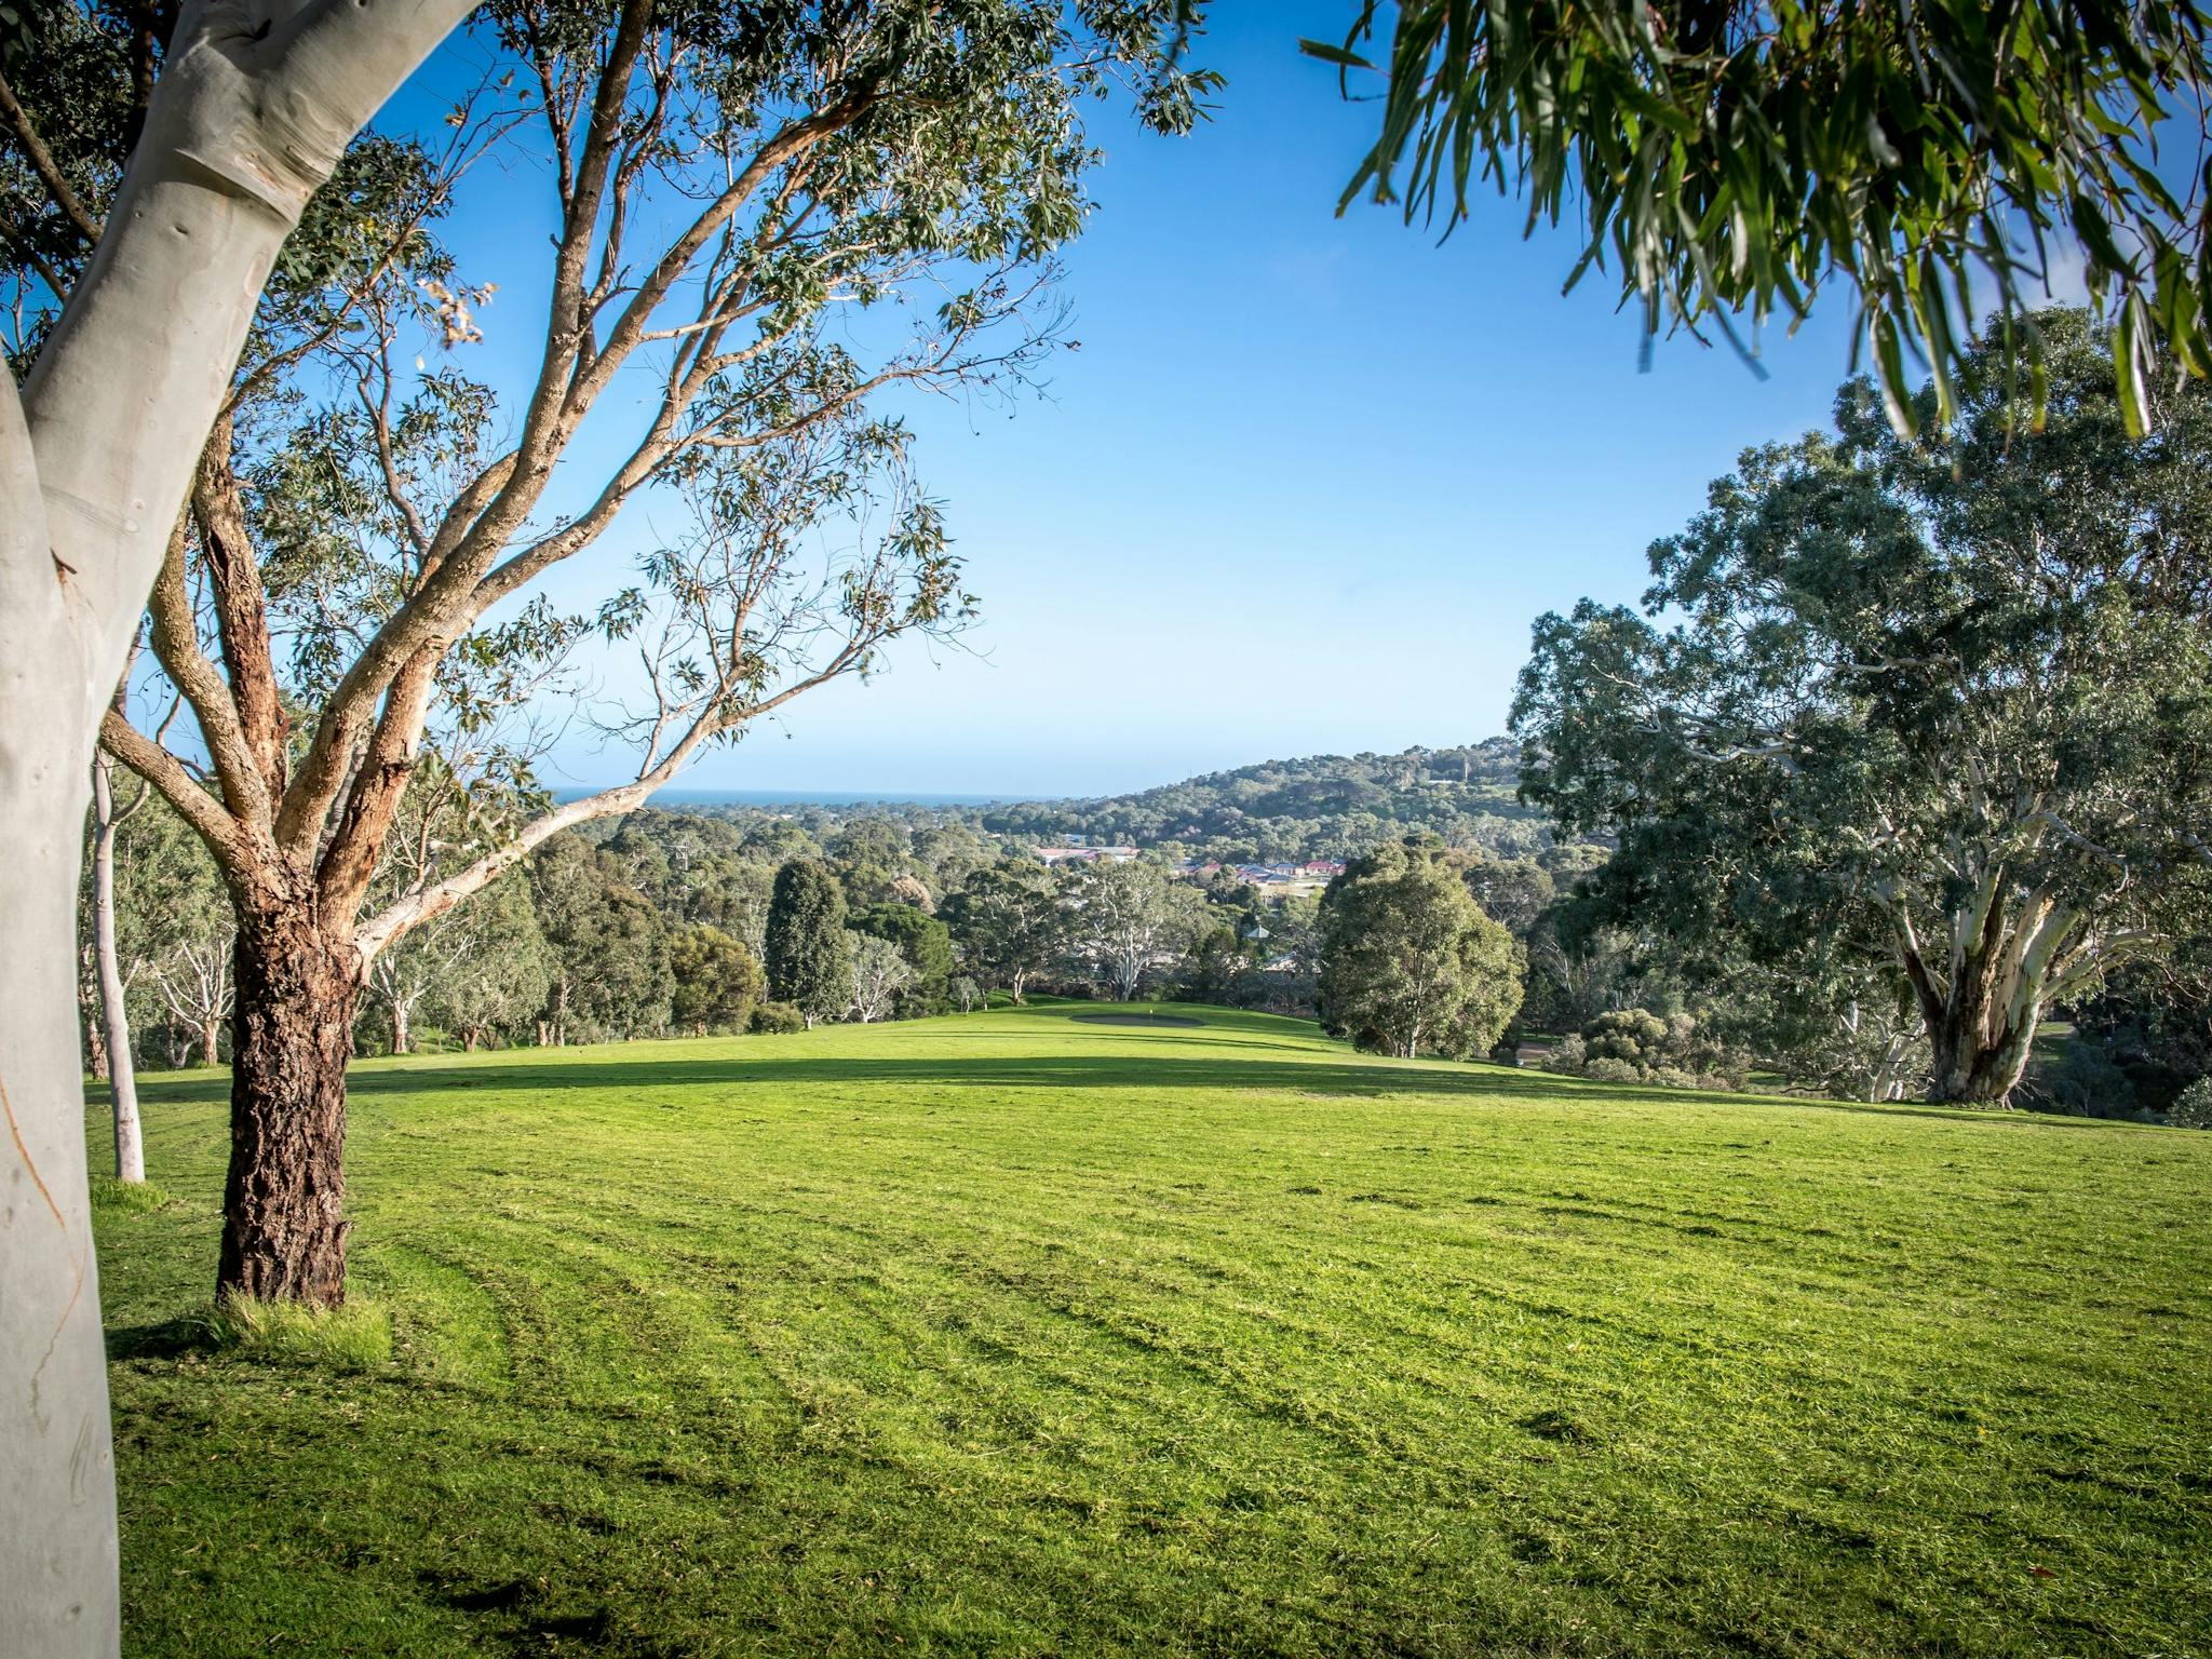
[[(1936, 369), (1936, 414), (1958, 407), (1975, 283), (1993, 285), (2006, 341), (2028, 345), (2039, 414), (2028, 307), (2048, 292), (2055, 243), (2119, 319), (2128, 431), (2150, 422), (2161, 341), (2188, 374), (2212, 367), (2212, 192), (2183, 201), (2159, 157), (2161, 128), (2179, 139), (2203, 122), (2197, 0), (1391, 11), (1383, 131), (1345, 204), (1371, 188), (1402, 195), (1409, 219), (1453, 223), (1489, 181), (1528, 201), (1531, 228), (1577, 215), (1588, 246), (1568, 288), (1615, 261), (1646, 334), (1710, 321), (1734, 338), (1739, 314), (1794, 323), (1843, 281), (1900, 431), (1920, 420), (1911, 358)], [(1343, 46), (1307, 51), (1371, 69), (1358, 49), (1380, 13), (1365, 0)]]

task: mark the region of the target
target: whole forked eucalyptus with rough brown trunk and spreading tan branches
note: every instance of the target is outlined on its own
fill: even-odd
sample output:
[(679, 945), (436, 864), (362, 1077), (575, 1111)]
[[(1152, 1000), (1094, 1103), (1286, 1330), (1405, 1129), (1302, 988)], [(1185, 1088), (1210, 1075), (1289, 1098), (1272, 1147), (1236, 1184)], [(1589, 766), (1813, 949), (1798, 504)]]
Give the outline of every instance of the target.
[[(330, 405), (261, 440), (217, 431), (155, 586), (155, 655), (217, 787), (124, 719), (104, 732), (239, 898), (223, 1294), (343, 1296), (343, 1033), (380, 953), (900, 635), (964, 622), (938, 504), (876, 400), (1004, 387), (1051, 349), (1088, 93), (1137, 75), (1155, 119), (1188, 119), (1183, 82), (1144, 77), (1152, 9), (1082, 15), (1071, 33), (1011, 0), (958, 24), (896, 2), (487, 9), (553, 159), (533, 380), (502, 400), (416, 369), (416, 330), (469, 341), (484, 290), (394, 270), (325, 347)], [(491, 442), (500, 409), (511, 445)], [(615, 442), (577, 442), (595, 414)], [(555, 491), (584, 504), (553, 513)], [(641, 580), (586, 615), (531, 597), (648, 498), (684, 529)], [(487, 723), (529, 708), (586, 628), (641, 659), (641, 701), (613, 721), (630, 779), (500, 814), (372, 905), (422, 754), (520, 776)]]

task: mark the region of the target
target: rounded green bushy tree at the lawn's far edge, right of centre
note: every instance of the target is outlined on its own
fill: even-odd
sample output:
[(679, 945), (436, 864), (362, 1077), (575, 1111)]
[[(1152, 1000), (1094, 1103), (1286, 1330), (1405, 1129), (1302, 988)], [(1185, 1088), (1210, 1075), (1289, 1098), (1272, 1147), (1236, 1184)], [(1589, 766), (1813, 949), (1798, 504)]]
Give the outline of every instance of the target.
[(1489, 1053), (1520, 1009), (1522, 967), (1442, 847), (1376, 847), (1321, 898), (1321, 1024), (1360, 1048)]

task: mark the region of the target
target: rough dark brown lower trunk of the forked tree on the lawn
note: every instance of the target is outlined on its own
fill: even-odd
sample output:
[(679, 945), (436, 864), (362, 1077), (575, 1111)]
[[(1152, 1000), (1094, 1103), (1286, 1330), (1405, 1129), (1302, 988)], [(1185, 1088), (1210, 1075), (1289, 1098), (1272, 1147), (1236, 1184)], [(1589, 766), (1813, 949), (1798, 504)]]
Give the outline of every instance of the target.
[(230, 1055), (230, 1177), (217, 1296), (345, 1301), (345, 1060), (352, 945), (283, 905), (243, 918)]

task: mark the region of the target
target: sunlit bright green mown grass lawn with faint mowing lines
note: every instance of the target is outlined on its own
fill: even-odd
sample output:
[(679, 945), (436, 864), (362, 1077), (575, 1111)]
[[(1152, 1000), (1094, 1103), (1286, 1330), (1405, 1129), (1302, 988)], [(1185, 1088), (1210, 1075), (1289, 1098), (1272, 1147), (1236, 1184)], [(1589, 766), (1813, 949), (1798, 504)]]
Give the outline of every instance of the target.
[(131, 1650), (2212, 1652), (2212, 1135), (1068, 1013), (363, 1064), (363, 1369), (153, 1079)]

